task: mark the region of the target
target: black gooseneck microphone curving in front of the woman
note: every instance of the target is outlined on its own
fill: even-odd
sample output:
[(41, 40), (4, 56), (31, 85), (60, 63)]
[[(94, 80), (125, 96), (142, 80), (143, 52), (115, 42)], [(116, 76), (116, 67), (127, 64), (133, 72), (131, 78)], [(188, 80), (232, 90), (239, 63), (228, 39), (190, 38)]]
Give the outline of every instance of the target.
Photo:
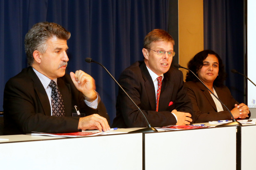
[[(190, 71), (191, 73), (193, 73), (193, 71), (191, 71), (188, 68), (182, 67), (180, 66), (180, 64), (174, 64), (175, 68), (184, 68), (188, 71)], [(195, 73), (193, 73), (193, 75), (195, 75)], [(195, 77), (197, 77), (197, 75), (195, 75)], [(197, 77), (197, 79), (211, 92), (211, 94), (213, 94), (213, 96), (219, 101), (221, 102), (221, 100), (199, 79), (199, 77)], [(221, 126), (242, 126), (242, 124), (240, 122), (237, 122), (237, 120), (234, 118), (234, 116), (232, 115), (232, 113), (230, 112), (230, 110), (225, 106), (225, 104), (223, 104), (223, 102), (221, 102), (221, 104), (228, 110), (228, 112), (230, 113), (231, 117), (232, 117), (232, 122), (229, 123), (225, 123), (225, 124), (220, 124), (218, 125), (219, 127)], [(217, 127), (217, 126), (216, 126)]]

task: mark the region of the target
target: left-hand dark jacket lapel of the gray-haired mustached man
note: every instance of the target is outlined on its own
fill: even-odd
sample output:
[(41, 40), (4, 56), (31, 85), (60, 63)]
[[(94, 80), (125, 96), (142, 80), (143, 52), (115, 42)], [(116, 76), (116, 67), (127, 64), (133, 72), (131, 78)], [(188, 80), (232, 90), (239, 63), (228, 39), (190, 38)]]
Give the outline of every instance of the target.
[(38, 98), (42, 104), (45, 115), (50, 116), (51, 115), (50, 102), (49, 102), (49, 99), (48, 99), (48, 96), (46, 94), (43, 84), (41, 83), (41, 81), (39, 80), (39, 78), (37, 77), (35, 72), (33, 71), (32, 67), (30, 67), (28, 73), (34, 82), (34, 88), (35, 88)]

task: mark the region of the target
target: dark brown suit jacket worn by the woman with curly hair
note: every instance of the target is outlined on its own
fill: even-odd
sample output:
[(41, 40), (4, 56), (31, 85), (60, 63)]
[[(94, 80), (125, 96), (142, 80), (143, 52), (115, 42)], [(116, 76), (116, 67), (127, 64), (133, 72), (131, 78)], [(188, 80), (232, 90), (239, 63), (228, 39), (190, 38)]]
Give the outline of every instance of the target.
[[(211, 97), (210, 92), (202, 83), (189, 81), (185, 82), (184, 86), (187, 89), (187, 94), (193, 104), (195, 123), (232, 119), (230, 113), (228, 110), (226, 110), (226, 108), (224, 108), (224, 106), (224, 111), (217, 112), (217, 107)], [(229, 110), (232, 110), (235, 107), (235, 104), (239, 104), (232, 97), (230, 90), (226, 86), (221, 88), (216, 86), (213, 87), (218, 95), (218, 98), (227, 106)]]

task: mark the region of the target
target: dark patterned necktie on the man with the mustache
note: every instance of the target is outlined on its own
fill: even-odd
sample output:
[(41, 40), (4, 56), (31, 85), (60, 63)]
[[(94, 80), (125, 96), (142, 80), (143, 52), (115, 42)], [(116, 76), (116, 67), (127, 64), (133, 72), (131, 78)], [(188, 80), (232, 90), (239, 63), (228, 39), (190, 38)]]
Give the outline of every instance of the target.
[(54, 80), (51, 80), (49, 86), (52, 88), (51, 101), (52, 101), (52, 115), (53, 116), (64, 116), (64, 103), (62, 96), (59, 92), (59, 88)]

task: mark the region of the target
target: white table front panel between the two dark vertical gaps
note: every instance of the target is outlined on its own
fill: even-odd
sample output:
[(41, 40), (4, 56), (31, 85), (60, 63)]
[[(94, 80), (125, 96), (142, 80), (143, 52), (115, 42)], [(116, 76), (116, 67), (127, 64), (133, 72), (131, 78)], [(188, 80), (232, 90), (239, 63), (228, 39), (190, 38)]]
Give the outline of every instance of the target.
[(236, 127), (145, 134), (145, 170), (236, 170)]

